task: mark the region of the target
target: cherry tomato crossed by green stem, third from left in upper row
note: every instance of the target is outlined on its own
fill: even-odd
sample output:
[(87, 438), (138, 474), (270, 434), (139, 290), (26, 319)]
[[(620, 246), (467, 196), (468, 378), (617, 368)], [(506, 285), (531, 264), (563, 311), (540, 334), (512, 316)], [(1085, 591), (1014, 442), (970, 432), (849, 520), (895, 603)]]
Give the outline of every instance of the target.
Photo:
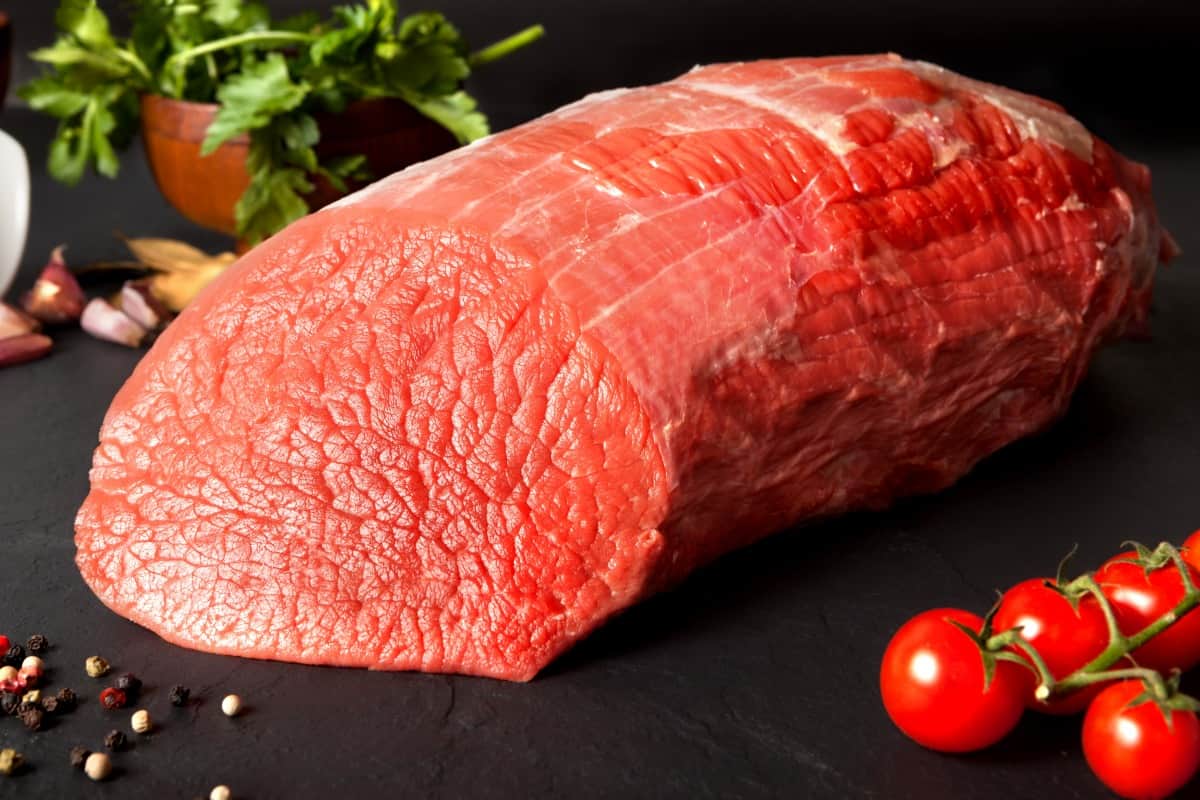
[[(1183, 581), (1174, 564), (1146, 575), (1141, 565), (1134, 563), (1136, 558), (1136, 553), (1122, 553), (1096, 572), (1096, 581), (1112, 603), (1126, 636), (1138, 633), (1183, 600)], [(1200, 572), (1188, 569), (1193, 584), (1200, 585)], [(1200, 612), (1192, 609), (1184, 614), (1138, 648), (1133, 660), (1159, 672), (1187, 670), (1200, 663)]]

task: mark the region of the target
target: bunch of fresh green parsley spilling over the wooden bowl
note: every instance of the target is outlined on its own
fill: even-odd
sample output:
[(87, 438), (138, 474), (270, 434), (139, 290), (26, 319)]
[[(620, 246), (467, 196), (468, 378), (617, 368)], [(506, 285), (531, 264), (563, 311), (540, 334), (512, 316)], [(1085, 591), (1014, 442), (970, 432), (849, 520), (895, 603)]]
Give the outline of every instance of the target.
[(97, 0), (61, 0), (53, 46), (31, 54), (50, 68), (19, 95), (59, 120), (49, 170), (73, 185), (88, 167), (113, 178), (116, 151), (138, 127), (142, 94), (216, 102), (202, 151), (250, 133), (250, 187), (236, 207), (238, 234), (256, 242), (308, 212), (314, 175), (341, 191), (364, 179), (365, 158), (322, 163), (313, 114), (356, 100), (397, 97), (460, 143), (487, 134), (487, 119), (462, 89), (473, 68), (542, 34), (528, 28), (470, 53), (436, 12), (400, 18), (396, 0), (338, 6), (328, 19), (305, 13), (274, 24), (252, 0), (133, 0), (127, 37), (113, 34)]

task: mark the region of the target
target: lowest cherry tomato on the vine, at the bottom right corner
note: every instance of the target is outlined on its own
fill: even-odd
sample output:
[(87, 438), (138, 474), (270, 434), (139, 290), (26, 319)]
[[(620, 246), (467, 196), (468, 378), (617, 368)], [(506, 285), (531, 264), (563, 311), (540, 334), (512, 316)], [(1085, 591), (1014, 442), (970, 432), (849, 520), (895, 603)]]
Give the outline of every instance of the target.
[(1171, 711), (1171, 723), (1154, 703), (1133, 708), (1141, 681), (1105, 688), (1084, 717), (1084, 756), (1105, 786), (1122, 798), (1158, 800), (1192, 780), (1200, 769), (1200, 721), (1192, 711)]

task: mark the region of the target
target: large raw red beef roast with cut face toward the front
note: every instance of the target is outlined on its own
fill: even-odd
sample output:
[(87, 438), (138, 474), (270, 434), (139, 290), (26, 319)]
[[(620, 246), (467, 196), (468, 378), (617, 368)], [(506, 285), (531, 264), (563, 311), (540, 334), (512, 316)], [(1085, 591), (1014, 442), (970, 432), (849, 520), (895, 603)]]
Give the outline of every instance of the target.
[(1170, 247), (1146, 168), (932, 65), (595, 95), (232, 267), (113, 402), (79, 569), (182, 645), (526, 680), (1045, 427)]

